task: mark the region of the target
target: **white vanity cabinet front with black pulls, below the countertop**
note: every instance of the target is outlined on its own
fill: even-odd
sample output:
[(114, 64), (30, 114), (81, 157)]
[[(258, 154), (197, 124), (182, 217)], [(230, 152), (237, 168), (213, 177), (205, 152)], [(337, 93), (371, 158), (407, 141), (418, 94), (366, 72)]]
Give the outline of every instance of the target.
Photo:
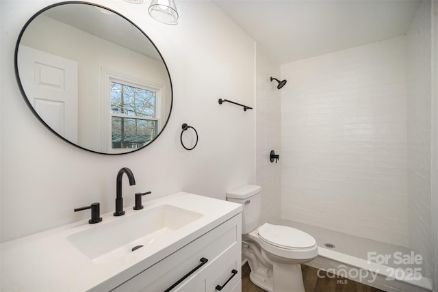
[(112, 291), (241, 291), (241, 222), (239, 213)]

